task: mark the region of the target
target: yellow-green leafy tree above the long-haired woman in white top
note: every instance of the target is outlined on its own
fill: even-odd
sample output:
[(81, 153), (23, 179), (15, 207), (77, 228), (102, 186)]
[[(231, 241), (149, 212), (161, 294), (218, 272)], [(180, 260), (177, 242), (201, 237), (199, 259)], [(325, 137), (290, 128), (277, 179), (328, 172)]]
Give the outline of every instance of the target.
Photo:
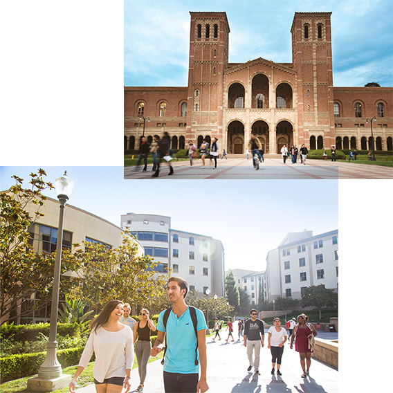
[(167, 275), (156, 277), (157, 263), (147, 255), (138, 255), (129, 232), (123, 233), (118, 248), (107, 249), (87, 241), (83, 248), (79, 244), (74, 244), (74, 248), (67, 257), (75, 259), (81, 268), (76, 272), (80, 280), (70, 293), (71, 299), (83, 299), (98, 309), (113, 299), (153, 309), (154, 300), (165, 293)]

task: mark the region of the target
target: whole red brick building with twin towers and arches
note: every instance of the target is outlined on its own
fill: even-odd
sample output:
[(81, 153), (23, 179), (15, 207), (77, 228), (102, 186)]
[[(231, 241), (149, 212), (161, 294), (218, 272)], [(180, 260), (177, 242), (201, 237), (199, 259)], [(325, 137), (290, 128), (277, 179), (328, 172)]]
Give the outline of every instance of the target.
[(333, 87), (331, 12), (295, 12), (292, 63), (228, 63), (226, 12), (190, 15), (188, 86), (125, 86), (125, 149), (163, 131), (172, 149), (215, 136), (221, 152), (244, 154), (251, 132), (268, 154), (284, 143), (372, 149), (375, 117), (374, 149), (393, 150), (393, 88)]

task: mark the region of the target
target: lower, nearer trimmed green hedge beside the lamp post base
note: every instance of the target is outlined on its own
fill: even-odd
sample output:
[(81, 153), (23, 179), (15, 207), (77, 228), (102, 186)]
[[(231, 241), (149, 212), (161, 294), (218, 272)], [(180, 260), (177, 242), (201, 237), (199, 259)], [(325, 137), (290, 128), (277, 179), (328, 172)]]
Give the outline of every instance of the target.
[[(77, 365), (82, 355), (82, 351), (83, 347), (59, 349), (57, 351), (57, 359), (63, 368)], [(37, 352), (35, 354), (17, 354), (0, 358), (1, 383), (37, 374), (39, 372), (39, 367), (44, 363), (45, 357), (46, 351)]]

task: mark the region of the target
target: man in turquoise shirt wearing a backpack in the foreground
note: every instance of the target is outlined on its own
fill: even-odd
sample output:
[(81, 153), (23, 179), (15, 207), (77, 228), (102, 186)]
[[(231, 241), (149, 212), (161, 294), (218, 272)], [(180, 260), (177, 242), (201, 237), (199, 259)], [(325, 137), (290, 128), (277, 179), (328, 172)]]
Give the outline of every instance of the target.
[(161, 352), (166, 333), (165, 393), (204, 393), (209, 389), (206, 381), (208, 360), (205, 316), (201, 310), (194, 307), (191, 309), (185, 304), (187, 293), (188, 284), (183, 278), (170, 277), (167, 282), (167, 295), (173, 307), (162, 311), (158, 316), (157, 339), (150, 352), (152, 356)]

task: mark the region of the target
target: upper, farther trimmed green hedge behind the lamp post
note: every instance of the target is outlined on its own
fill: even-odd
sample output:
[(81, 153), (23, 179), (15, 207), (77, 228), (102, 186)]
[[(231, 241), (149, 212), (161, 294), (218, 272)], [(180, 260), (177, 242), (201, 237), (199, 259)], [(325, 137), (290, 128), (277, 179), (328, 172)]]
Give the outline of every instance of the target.
[[(80, 326), (77, 323), (58, 323), (57, 334), (60, 336), (75, 336)], [(33, 325), (1, 325), (1, 338), (14, 341), (35, 341), (38, 333), (49, 336), (48, 323), (36, 323)]]

